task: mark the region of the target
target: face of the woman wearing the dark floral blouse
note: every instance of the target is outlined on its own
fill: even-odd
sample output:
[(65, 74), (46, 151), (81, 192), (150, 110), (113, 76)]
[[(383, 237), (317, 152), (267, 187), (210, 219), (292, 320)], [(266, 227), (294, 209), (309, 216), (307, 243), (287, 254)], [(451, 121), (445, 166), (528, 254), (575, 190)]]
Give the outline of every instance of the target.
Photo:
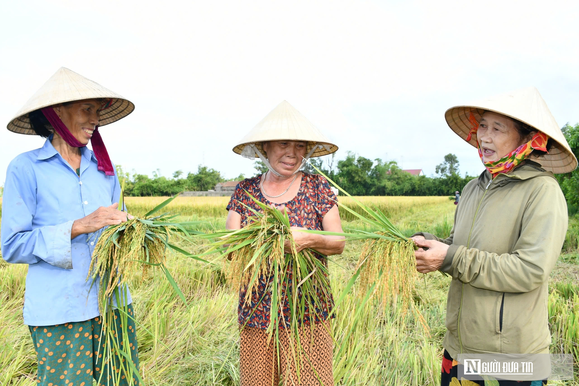
[(269, 141), (263, 143), (263, 150), (275, 171), (290, 176), (302, 164), (303, 157), (306, 156), (307, 142)]

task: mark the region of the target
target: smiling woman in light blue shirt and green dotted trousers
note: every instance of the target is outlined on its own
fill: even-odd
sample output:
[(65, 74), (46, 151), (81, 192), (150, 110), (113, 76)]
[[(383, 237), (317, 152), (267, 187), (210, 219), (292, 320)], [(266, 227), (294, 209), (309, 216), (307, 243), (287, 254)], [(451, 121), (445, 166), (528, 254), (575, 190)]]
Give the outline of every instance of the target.
[[(119, 179), (98, 126), (133, 109), (132, 102), (62, 67), (8, 123), (14, 133), (46, 138), (42, 148), (10, 162), (2, 200), (2, 258), (28, 264), (23, 314), (36, 350), (35, 385), (91, 386), (103, 374), (100, 386), (119, 374), (98, 359), (98, 285), (90, 289), (86, 278), (102, 228), (127, 220), (117, 208)], [(130, 293), (128, 303), (133, 315)], [(134, 321), (125, 328), (129, 341), (122, 344), (133, 349), (138, 369)], [(120, 384), (128, 385), (127, 377)]]

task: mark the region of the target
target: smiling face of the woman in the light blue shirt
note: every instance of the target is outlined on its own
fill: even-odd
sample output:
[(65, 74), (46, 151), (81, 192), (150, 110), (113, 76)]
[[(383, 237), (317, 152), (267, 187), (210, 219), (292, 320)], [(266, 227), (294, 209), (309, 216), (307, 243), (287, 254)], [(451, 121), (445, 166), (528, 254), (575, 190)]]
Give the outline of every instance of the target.
[(86, 145), (93, 136), (94, 128), (98, 126), (98, 109), (100, 108), (100, 101), (90, 99), (56, 106), (54, 112), (60, 116), (60, 120), (63, 121), (68, 131), (81, 144)]

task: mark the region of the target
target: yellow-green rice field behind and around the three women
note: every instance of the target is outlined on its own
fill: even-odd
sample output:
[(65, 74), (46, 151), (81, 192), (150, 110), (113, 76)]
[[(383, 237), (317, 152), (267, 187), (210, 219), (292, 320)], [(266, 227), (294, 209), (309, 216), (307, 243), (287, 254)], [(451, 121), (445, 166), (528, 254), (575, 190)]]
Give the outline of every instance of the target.
[[(132, 214), (144, 214), (163, 197), (127, 197)], [(410, 236), (423, 230), (446, 237), (452, 229), (455, 205), (448, 197), (360, 197), (382, 210)], [(1, 198), (0, 198), (1, 200)], [(225, 227), (229, 197), (180, 197), (169, 209), (181, 220), (201, 220), (199, 230)], [(354, 207), (351, 200), (340, 201)], [(367, 229), (340, 209), (344, 229)], [(562, 254), (551, 275), (549, 326), (552, 352), (572, 352), (579, 358), (579, 220), (570, 219)], [(203, 250), (200, 241), (174, 240), (189, 252)], [(349, 241), (329, 263), (336, 295), (351, 277), (362, 247)], [(135, 273), (130, 280), (137, 319), (141, 374), (147, 385), (239, 385), (237, 293), (219, 267), (170, 253), (167, 267), (185, 294), (184, 304), (160, 273)], [(34, 347), (23, 324), (27, 266), (0, 260), (0, 385), (35, 384)], [(428, 325), (424, 330), (411, 313), (400, 321), (400, 307), (382, 309), (371, 302), (360, 307), (356, 287), (340, 304), (333, 320), (336, 385), (438, 385), (445, 333), (446, 292), (450, 279), (440, 273), (420, 275), (414, 302)], [(355, 316), (357, 315), (357, 317)], [(574, 381), (553, 385), (579, 386)]]

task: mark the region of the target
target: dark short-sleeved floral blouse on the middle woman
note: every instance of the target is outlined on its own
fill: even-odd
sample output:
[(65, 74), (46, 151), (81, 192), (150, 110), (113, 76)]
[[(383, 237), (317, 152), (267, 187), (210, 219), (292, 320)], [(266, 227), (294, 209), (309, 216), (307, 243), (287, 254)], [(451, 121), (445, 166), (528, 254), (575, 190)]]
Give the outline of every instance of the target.
[[(235, 192), (231, 196), (231, 200), (227, 205), (227, 210), (233, 209), (241, 215), (241, 226), (247, 225), (248, 219), (252, 216), (252, 212), (245, 208), (243, 204), (256, 211), (261, 211), (257, 204), (244, 192), (247, 190), (252, 196), (257, 200), (265, 203), (267, 205), (270, 203), (265, 196), (263, 196), (261, 189), (259, 189), (259, 182), (261, 181), (261, 175), (253, 178), (246, 178), (237, 184)], [(322, 229), (322, 219), (325, 214), (328, 213), (329, 209), (332, 209), (336, 205), (336, 195), (332, 192), (329, 187), (328, 180), (317, 174), (309, 174), (303, 172), (302, 182), (298, 190), (298, 194), (292, 200), (287, 201), (284, 204), (285, 208), (290, 217), (291, 226), (299, 226), (307, 229), (313, 230), (323, 230)], [(318, 253), (314, 253), (316, 258), (328, 264), (325, 256)], [(290, 274), (291, 280), (291, 274)], [(267, 329), (270, 323), (270, 309), (271, 309), (271, 291), (269, 294), (264, 294), (266, 287), (271, 285), (273, 278), (259, 277), (259, 285), (257, 291), (253, 291), (251, 294), (251, 304), (244, 304), (244, 296), (246, 289), (240, 288), (239, 291), (239, 306), (237, 308), (237, 321), (240, 325), (244, 325), (247, 321), (247, 326), (256, 327), (261, 329)], [(288, 288), (287, 286), (285, 288)], [(298, 290), (299, 291), (299, 290)], [(264, 296), (265, 295), (265, 296)], [(263, 297), (262, 302), (259, 299)], [(298, 292), (298, 299), (301, 299), (301, 291)], [(318, 292), (318, 299), (320, 299), (321, 307), (316, 307), (316, 313), (314, 314), (314, 323), (319, 323), (325, 321), (328, 318), (329, 312), (331, 312), (334, 307), (334, 298), (330, 294), (329, 299), (322, 292)], [(255, 310), (255, 311), (254, 311)], [(253, 314), (252, 314), (252, 311)], [(284, 304), (284, 319), (285, 327), (290, 328), (290, 304), (285, 301)], [(287, 316), (286, 316), (287, 315)], [(309, 324), (311, 317), (309, 316), (309, 310), (307, 310), (307, 305), (304, 313), (305, 317), (303, 320), (304, 324)], [(318, 318), (320, 315), (321, 319)], [(334, 318), (335, 315), (332, 315)], [(249, 320), (248, 320), (249, 319)], [(301, 323), (302, 321), (298, 321)], [(284, 328), (283, 323), (280, 320), (280, 327)]]

